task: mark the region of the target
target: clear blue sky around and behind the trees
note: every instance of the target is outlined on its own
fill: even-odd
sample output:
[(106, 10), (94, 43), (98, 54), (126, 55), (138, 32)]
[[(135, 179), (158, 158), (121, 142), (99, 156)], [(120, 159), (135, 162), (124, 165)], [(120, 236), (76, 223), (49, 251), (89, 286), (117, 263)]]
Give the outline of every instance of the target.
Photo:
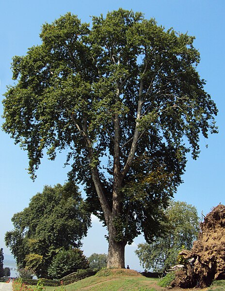
[[(201, 154), (197, 161), (189, 157), (184, 183), (175, 195), (177, 200), (196, 206), (199, 214), (206, 214), (220, 202), (225, 204), (225, 1), (224, 0), (8, 0), (0, 2), (0, 98), (6, 86), (12, 84), (10, 63), (14, 55), (24, 55), (27, 49), (40, 43), (41, 25), (52, 22), (66, 12), (77, 14), (82, 21), (90, 16), (106, 15), (122, 7), (141, 11), (146, 18), (155, 17), (165, 28), (194, 35), (195, 48), (201, 54), (198, 65), (200, 76), (207, 80), (206, 91), (217, 104), (219, 134), (201, 140)], [(2, 114), (0, 105), (0, 115)], [(2, 123), (2, 119), (0, 120)], [(209, 145), (208, 149), (206, 144)], [(41, 192), (44, 185), (64, 183), (69, 169), (63, 168), (65, 154), (55, 162), (43, 159), (35, 182), (29, 178), (26, 152), (9, 136), (0, 131), (0, 247), (5, 254), (10, 251), (4, 245), (4, 234), (12, 229), (11, 217), (28, 206), (32, 195)], [(106, 253), (106, 231), (94, 219), (82, 249), (86, 256)], [(140, 270), (133, 245), (126, 247), (126, 264)]]

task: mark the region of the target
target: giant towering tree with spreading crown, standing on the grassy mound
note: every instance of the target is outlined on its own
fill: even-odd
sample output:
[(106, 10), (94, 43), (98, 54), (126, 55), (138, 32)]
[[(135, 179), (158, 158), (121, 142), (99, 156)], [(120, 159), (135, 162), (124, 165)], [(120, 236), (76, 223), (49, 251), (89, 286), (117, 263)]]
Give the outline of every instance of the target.
[(193, 36), (166, 31), (142, 13), (70, 13), (44, 24), (42, 43), (13, 59), (3, 129), (28, 151), (35, 178), (43, 151), (68, 148), (70, 179), (85, 184), (107, 226), (108, 267), (125, 267), (127, 243), (160, 231), (199, 138), (216, 132), (216, 106), (196, 71)]

